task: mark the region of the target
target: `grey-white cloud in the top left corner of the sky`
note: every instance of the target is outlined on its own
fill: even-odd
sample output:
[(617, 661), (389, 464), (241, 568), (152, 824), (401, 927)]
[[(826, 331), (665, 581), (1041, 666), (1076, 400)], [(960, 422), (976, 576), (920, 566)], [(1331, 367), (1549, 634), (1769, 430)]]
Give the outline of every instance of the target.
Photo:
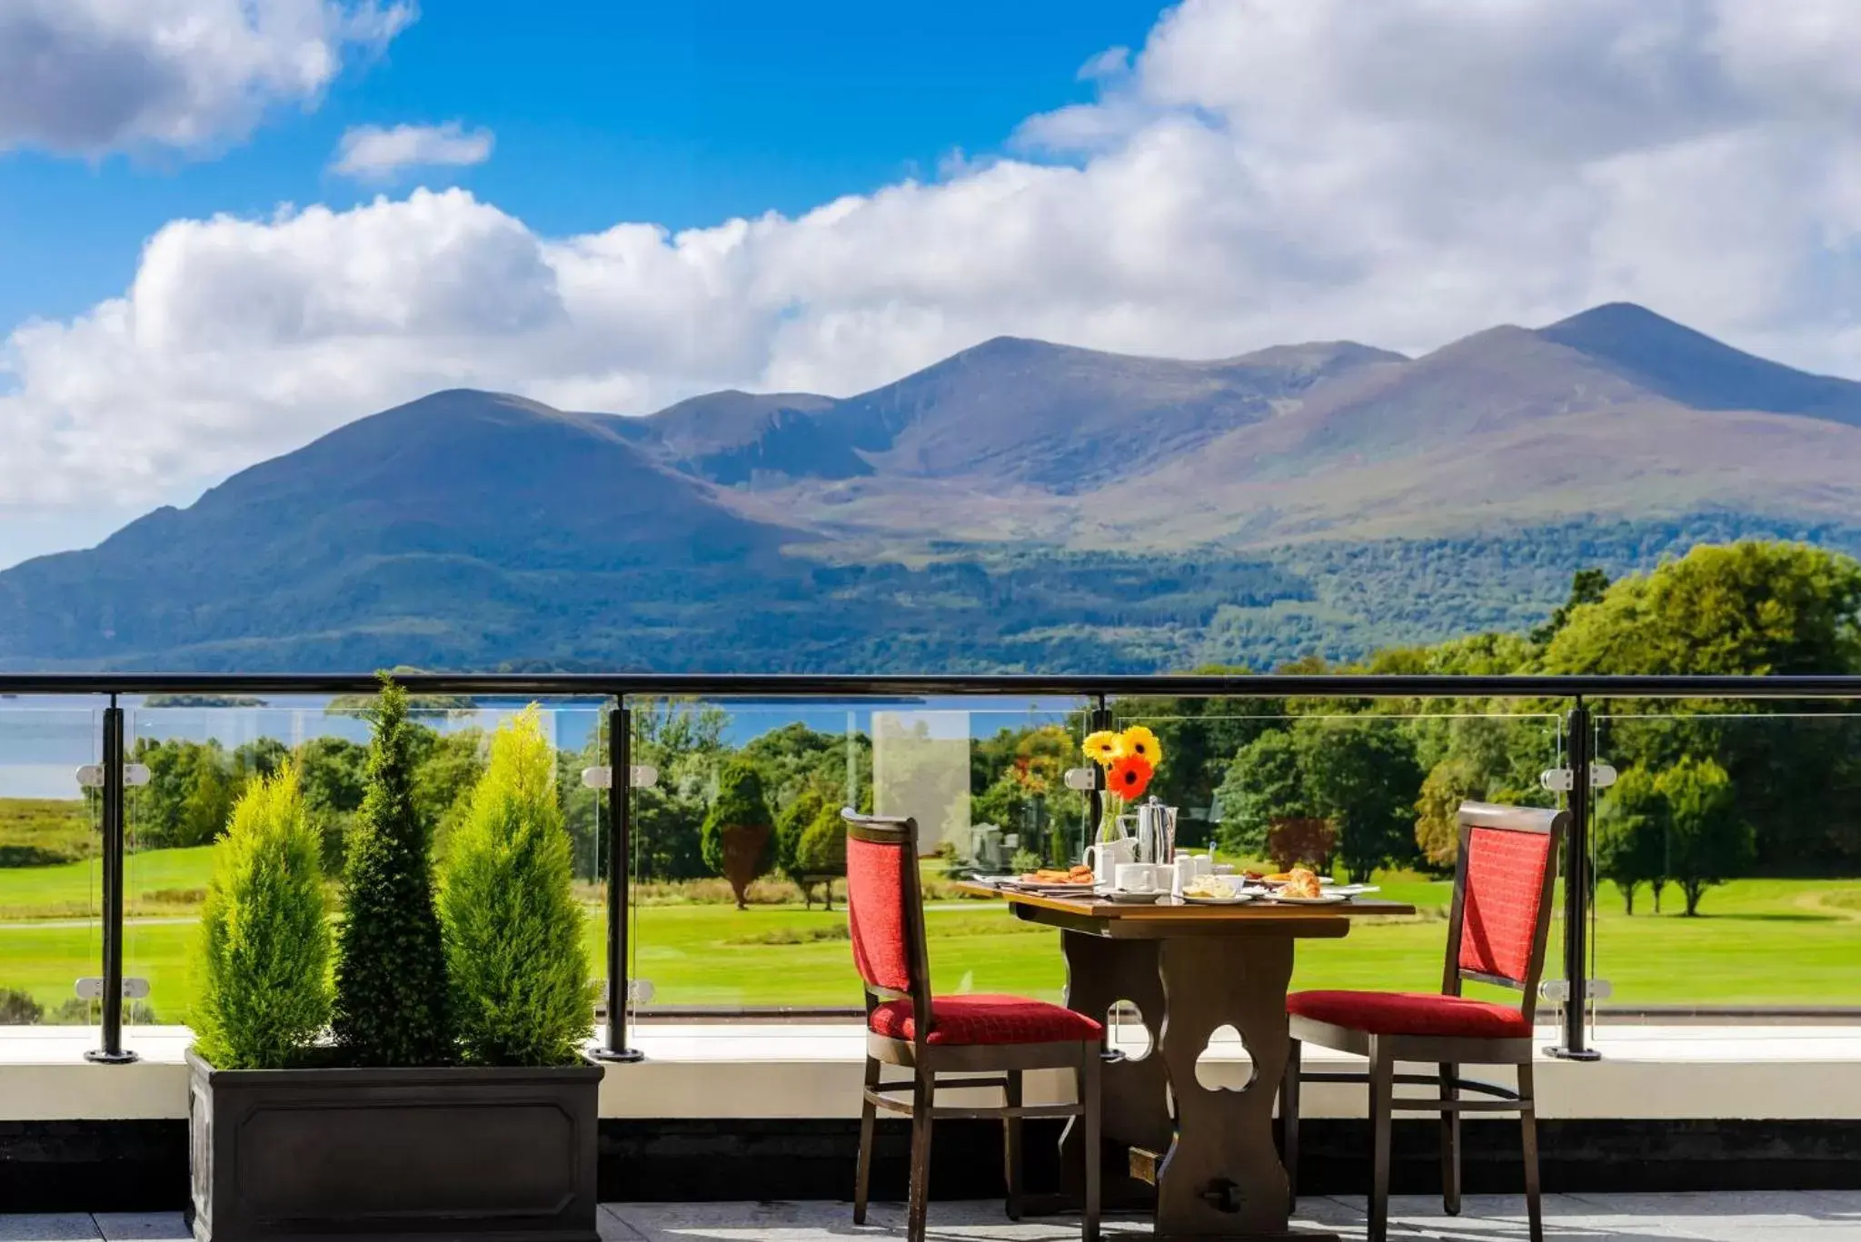
[(0, 151), (236, 140), (411, 20), (411, 0), (4, 0)]

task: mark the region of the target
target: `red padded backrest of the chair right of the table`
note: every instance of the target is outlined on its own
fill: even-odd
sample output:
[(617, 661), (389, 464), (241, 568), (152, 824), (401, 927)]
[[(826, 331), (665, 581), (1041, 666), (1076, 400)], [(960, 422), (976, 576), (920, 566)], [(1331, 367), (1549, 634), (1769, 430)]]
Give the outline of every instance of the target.
[(1461, 857), (1448, 914), (1448, 965), (1442, 991), (1457, 996), (1463, 979), (1524, 992), (1532, 1017), (1550, 937), (1558, 845), (1569, 812), (1537, 806), (1461, 803)]

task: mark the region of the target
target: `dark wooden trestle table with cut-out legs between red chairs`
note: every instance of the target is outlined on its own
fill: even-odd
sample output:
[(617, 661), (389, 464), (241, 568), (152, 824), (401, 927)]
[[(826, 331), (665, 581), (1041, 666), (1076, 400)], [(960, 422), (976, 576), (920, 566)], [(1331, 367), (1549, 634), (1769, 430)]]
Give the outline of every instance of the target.
[[(1154, 1186), (1156, 1236), (1310, 1238), (1286, 1227), (1286, 1166), (1273, 1141), (1273, 1100), (1286, 1071), (1286, 985), (1293, 940), (1336, 938), (1353, 918), (1414, 914), (1396, 901), (1340, 905), (1120, 905), (1094, 894), (1044, 896), (964, 884), (1007, 898), (1014, 916), (1061, 929), (1066, 1006), (1105, 1020), (1120, 1000), (1150, 1032), (1145, 1058), (1104, 1067), (1107, 1147), (1128, 1154), (1128, 1190)], [(1223, 1026), (1239, 1032), (1254, 1076), (1239, 1091), (1208, 1089), (1195, 1063)], [(1061, 1140), (1063, 1168), (1104, 1153)], [(1117, 1186), (1107, 1181), (1107, 1190)]]

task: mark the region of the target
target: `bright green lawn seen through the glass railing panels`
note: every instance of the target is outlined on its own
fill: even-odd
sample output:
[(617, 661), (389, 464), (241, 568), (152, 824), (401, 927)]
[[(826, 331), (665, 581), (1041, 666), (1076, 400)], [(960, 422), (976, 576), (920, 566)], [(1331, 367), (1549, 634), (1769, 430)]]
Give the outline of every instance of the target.
[[(132, 909), (186, 909), (164, 898), (205, 886), (208, 866), (208, 849), (132, 855)], [(0, 987), (24, 987), (52, 1007), (78, 976), (99, 972), (91, 884), (91, 862), (0, 870)], [(1297, 987), (1440, 985), (1448, 884), (1392, 879), (1385, 896), (1429, 916), (1301, 944)], [(1615, 985), (1617, 1004), (1861, 1004), (1861, 881), (1736, 881), (1707, 894), (1701, 918), (1673, 914), (1671, 896), (1667, 914), (1643, 907), (1627, 918), (1615, 892), (1602, 890), (1597, 972)], [(73, 911), (82, 912), (76, 925), (47, 922)], [(929, 925), (938, 989), (1059, 996), (1057, 933), (1016, 924), (992, 901), (934, 905)], [(847, 942), (821, 938), (843, 927), (841, 911), (646, 907), (636, 912), (635, 976), (651, 979), (663, 1006), (856, 1006)], [(151, 981), (164, 1019), (186, 1013), (194, 938), (190, 922), (127, 929), (128, 974)], [(586, 944), (599, 974), (603, 924), (594, 909)]]

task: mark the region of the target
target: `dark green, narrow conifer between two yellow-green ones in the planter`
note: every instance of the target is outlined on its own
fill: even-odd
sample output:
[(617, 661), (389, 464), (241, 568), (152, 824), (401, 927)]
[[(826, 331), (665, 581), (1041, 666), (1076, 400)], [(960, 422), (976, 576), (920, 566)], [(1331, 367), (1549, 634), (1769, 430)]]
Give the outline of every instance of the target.
[(382, 674), (367, 791), (350, 830), (337, 955), (337, 1045), (354, 1065), (454, 1060), (432, 825), (413, 801), (408, 695)]

